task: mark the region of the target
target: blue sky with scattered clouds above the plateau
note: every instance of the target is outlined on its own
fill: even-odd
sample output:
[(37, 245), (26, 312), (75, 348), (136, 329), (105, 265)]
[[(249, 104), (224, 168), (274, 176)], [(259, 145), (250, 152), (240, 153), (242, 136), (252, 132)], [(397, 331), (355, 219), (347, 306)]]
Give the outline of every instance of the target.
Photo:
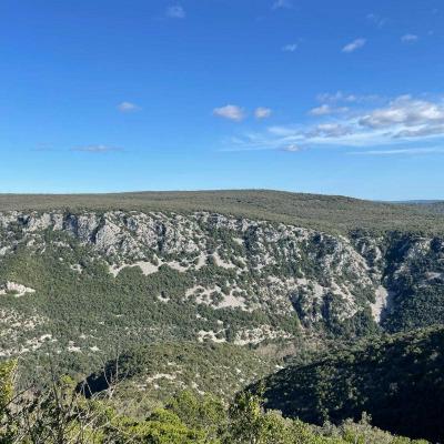
[(442, 0), (2, 0), (0, 191), (444, 199)]

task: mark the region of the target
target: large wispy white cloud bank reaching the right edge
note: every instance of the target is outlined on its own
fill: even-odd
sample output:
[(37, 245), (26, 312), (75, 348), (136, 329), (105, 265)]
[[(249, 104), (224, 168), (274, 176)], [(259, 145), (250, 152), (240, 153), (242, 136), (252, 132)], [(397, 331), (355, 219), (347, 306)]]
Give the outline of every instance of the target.
[[(382, 148), (405, 149), (408, 144), (442, 140), (444, 148), (444, 100), (401, 95), (382, 107), (353, 109), (334, 117), (331, 109), (319, 107), (317, 122), (272, 125), (261, 132), (246, 133), (232, 141), (238, 150), (284, 150), (300, 148)], [(412, 149), (412, 147), (410, 147)]]

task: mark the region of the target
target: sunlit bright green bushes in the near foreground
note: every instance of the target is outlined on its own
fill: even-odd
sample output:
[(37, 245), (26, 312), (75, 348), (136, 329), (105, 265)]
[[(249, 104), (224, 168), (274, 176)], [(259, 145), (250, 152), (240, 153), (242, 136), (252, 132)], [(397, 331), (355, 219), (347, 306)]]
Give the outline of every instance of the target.
[(38, 393), (16, 393), (13, 362), (0, 364), (2, 444), (426, 444), (392, 436), (366, 421), (316, 428), (264, 412), (259, 397), (240, 394), (226, 405), (181, 392), (144, 418), (118, 412), (110, 397), (85, 400), (63, 377)]

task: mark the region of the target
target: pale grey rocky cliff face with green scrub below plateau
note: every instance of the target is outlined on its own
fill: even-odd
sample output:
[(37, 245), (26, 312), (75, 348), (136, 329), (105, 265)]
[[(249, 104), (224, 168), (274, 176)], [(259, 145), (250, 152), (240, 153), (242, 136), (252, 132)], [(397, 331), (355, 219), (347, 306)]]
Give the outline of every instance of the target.
[[(42, 276), (50, 271), (59, 279), (49, 283)], [(301, 327), (339, 334), (376, 324), (402, 330), (440, 319), (443, 285), (442, 238), (332, 235), (208, 212), (0, 213), (7, 355), (41, 346), (37, 330), (60, 342), (54, 322), (68, 325), (64, 335), (82, 330), (87, 337), (100, 336), (100, 322), (108, 322), (99, 320), (100, 311), (111, 311), (128, 335), (134, 329), (138, 335), (150, 329), (163, 334), (163, 313), (172, 337), (183, 335), (178, 329), (186, 323), (189, 339), (238, 344), (291, 337)], [(67, 303), (71, 312), (64, 313)], [(72, 326), (81, 323), (82, 313), (75, 311), (91, 322)], [(186, 322), (179, 314), (174, 319), (178, 311), (186, 313)], [(143, 319), (131, 319), (142, 312)], [(39, 329), (26, 334), (31, 319)], [(12, 345), (4, 332), (16, 337)], [(65, 337), (64, 349), (84, 350), (77, 340)], [(99, 349), (91, 344), (89, 351)]]

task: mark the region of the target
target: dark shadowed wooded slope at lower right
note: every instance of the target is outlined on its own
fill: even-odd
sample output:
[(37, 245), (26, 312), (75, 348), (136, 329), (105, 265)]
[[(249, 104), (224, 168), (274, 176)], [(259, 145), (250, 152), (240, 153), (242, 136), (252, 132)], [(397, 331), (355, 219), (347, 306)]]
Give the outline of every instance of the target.
[(266, 377), (266, 406), (322, 424), (371, 414), (392, 433), (444, 438), (444, 329), (373, 339)]

